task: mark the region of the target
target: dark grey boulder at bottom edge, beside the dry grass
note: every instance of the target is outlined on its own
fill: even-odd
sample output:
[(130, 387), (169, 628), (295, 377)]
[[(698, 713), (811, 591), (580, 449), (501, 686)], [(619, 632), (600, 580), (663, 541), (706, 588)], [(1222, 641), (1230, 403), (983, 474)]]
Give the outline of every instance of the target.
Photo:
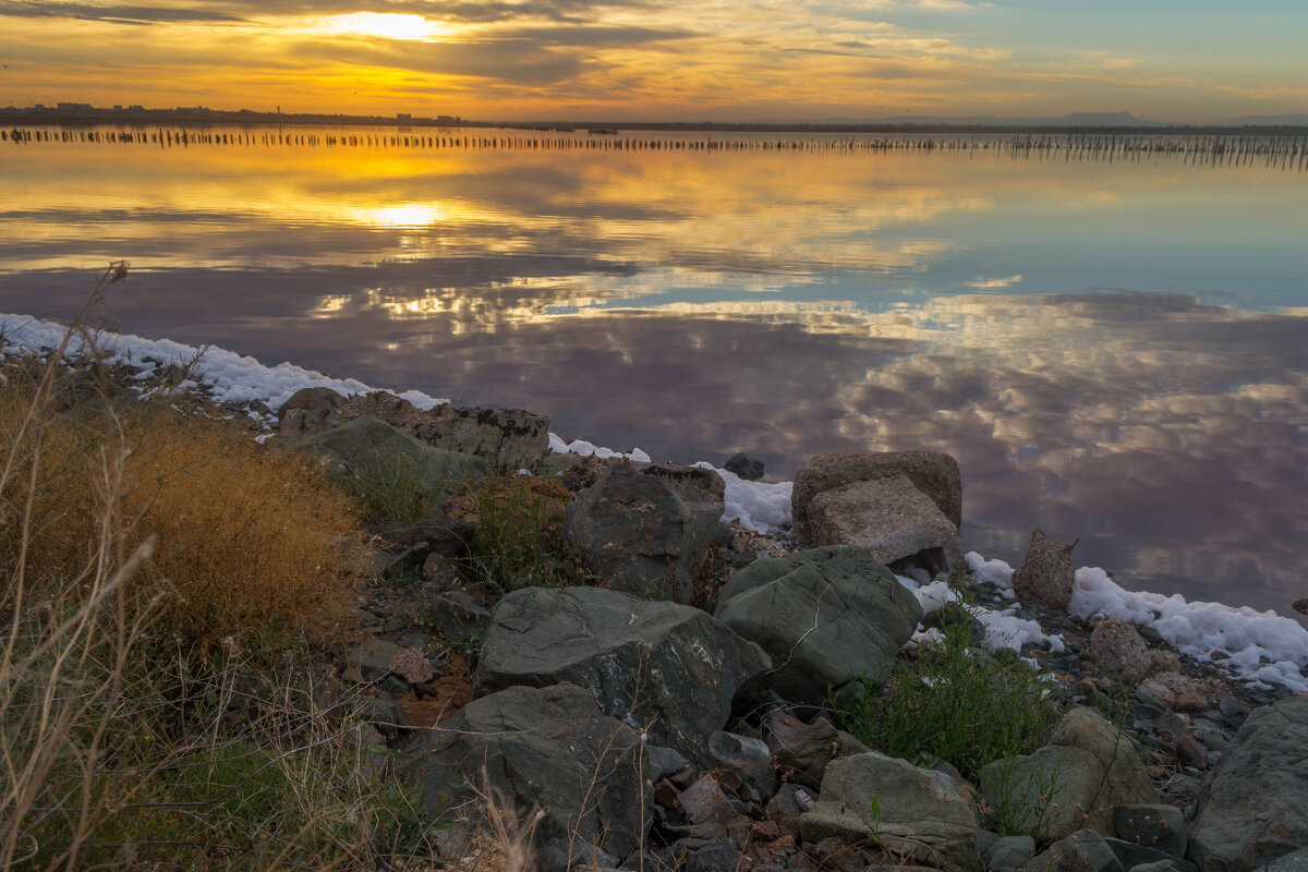
[[(509, 688), (463, 706), (413, 741), (400, 774), (445, 813), (485, 786), (523, 812), (543, 812), (535, 848), (543, 872), (616, 867), (649, 825), (653, 777), (641, 736), (576, 685)], [(484, 775), (483, 775), (484, 774)]]

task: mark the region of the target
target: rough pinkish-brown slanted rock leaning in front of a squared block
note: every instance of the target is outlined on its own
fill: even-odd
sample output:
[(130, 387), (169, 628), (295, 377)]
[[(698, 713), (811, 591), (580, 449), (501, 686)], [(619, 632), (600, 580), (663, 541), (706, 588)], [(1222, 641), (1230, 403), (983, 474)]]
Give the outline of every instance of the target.
[(814, 545), (858, 545), (882, 563), (913, 557), (935, 571), (961, 569), (959, 528), (904, 475), (852, 481), (808, 503)]

